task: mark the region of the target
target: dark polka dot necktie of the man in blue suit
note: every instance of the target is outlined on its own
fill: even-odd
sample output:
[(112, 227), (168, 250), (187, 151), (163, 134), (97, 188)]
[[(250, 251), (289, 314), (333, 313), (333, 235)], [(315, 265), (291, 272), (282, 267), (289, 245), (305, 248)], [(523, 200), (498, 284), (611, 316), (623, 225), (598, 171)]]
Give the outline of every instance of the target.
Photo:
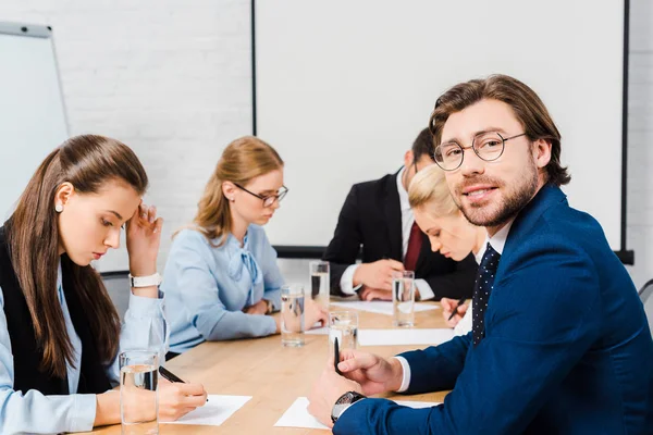
[(472, 296), (472, 337), (473, 345), (481, 343), (485, 336), (485, 310), (488, 309), (488, 301), (490, 300), (490, 293), (494, 287), (494, 275), (496, 274), (496, 268), (498, 268), (498, 260), (501, 253), (496, 252), (490, 244), (485, 249), (481, 265), (478, 271), (476, 285), (473, 287)]

